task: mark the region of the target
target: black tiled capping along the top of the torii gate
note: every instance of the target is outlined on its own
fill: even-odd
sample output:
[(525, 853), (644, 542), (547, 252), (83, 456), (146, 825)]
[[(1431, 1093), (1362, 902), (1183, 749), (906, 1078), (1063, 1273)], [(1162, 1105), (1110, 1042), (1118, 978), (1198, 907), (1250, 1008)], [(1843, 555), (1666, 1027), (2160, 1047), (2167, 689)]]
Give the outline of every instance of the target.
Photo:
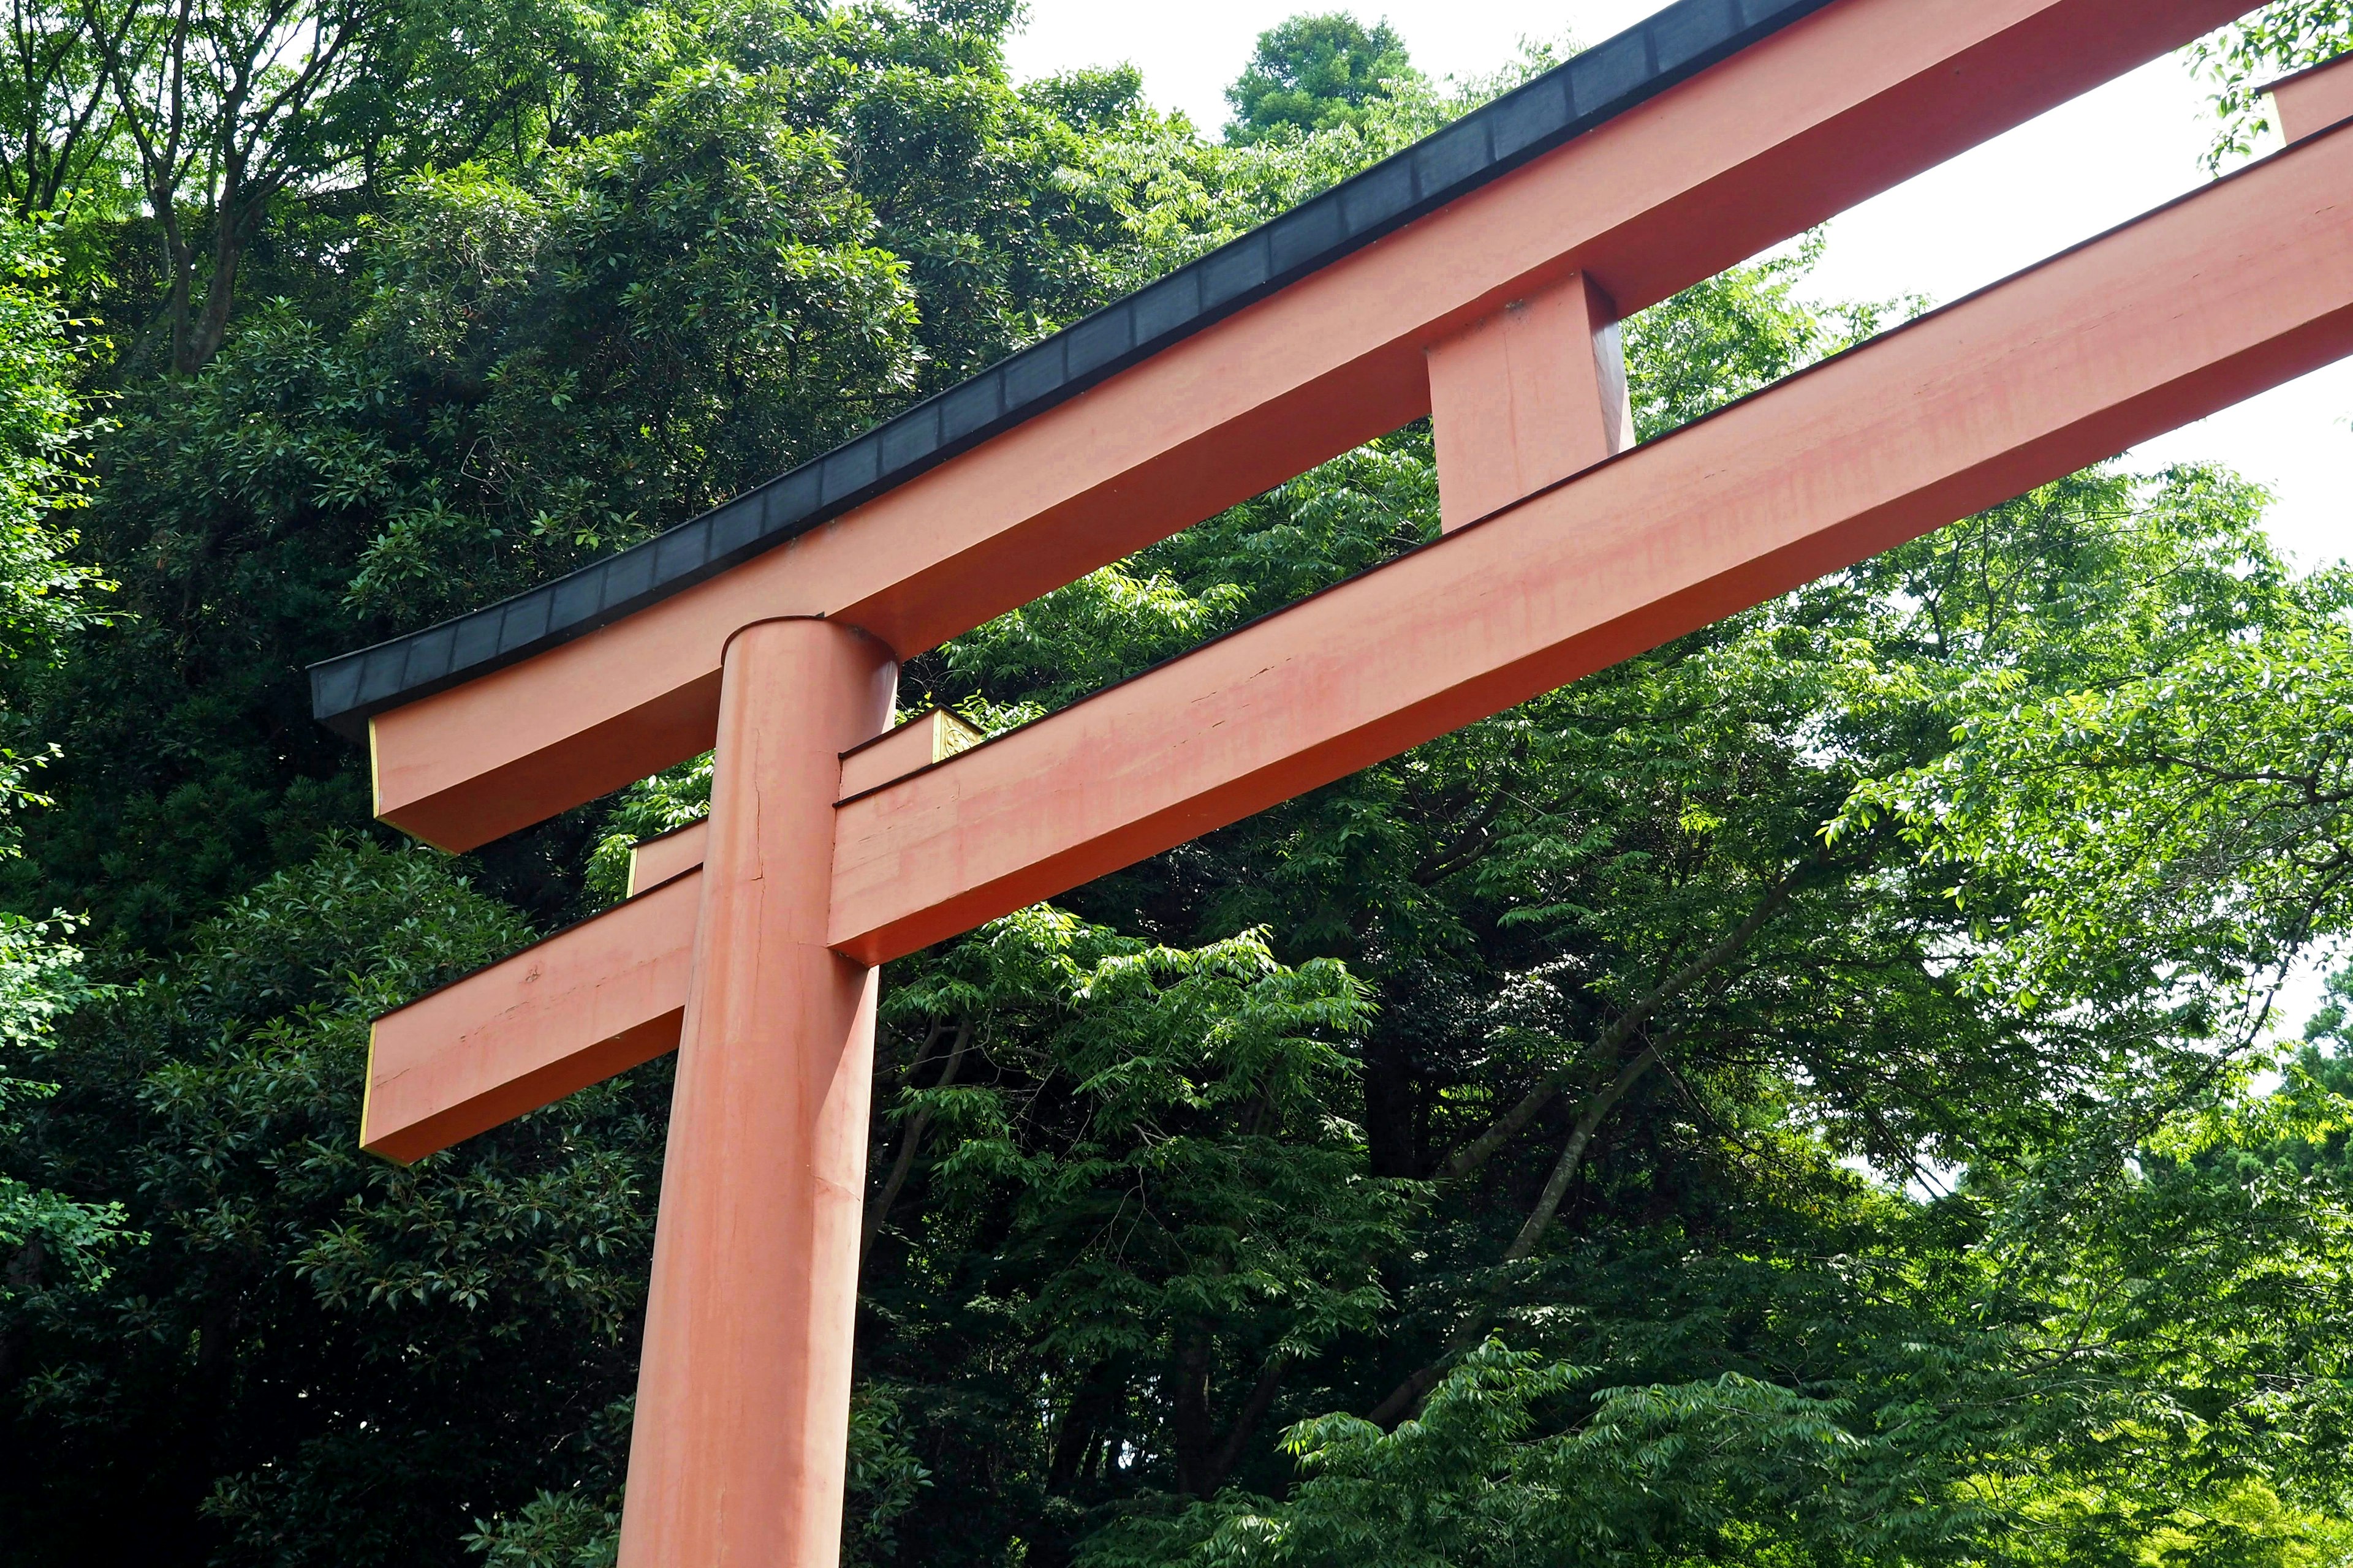
[(1675, 0), (1609, 42), (781, 480), (504, 604), (311, 665), (311, 712), (346, 736), (365, 738), (369, 715), (584, 637), (718, 576), (1078, 397), (1828, 2)]

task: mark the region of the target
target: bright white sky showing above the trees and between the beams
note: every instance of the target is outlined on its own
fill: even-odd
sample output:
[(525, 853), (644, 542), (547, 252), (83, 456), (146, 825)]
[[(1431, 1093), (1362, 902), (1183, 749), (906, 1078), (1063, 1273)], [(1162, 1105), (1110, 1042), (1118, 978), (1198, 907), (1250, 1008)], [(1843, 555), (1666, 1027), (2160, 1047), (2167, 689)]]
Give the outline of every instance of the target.
[[(1146, 94), (1205, 132), (1226, 122), (1224, 89), (1264, 28), (1304, 9), (1388, 19), (1431, 75), (1478, 75), (1522, 38), (1593, 45), (1664, 0), (1031, 0), (1012, 42), (1021, 78), (1132, 61)], [(2009, 136), (1889, 190), (1831, 223), (1812, 292), (1821, 299), (1960, 299), (2125, 223), (2195, 186), (2214, 129), (2188, 66), (2162, 59)], [(2177, 430), (2132, 454), (2158, 468), (2217, 461), (2273, 487), (2271, 531), (2313, 564), (2353, 555), (2353, 360)], [(2306, 976), (2285, 1011), (2318, 999)]]

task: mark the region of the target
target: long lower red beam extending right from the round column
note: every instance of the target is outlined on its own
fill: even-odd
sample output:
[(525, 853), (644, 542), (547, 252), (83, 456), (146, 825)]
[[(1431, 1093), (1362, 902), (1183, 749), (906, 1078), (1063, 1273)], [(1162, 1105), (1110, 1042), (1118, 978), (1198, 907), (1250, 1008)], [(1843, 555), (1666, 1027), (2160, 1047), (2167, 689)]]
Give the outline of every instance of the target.
[(847, 802), (882, 961), (2353, 353), (2353, 129)]

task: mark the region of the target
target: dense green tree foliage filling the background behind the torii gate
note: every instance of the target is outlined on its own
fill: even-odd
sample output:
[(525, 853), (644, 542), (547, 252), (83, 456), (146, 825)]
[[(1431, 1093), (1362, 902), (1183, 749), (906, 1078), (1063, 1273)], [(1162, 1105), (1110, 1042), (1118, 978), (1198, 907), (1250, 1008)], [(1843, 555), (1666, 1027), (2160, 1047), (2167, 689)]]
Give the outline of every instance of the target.
[[(1012, 82), (1012, 12), (12, 12), (0, 1563), (612, 1561), (668, 1067), (405, 1171), (353, 1121), (367, 1020), (616, 898), (708, 762), (447, 860), (306, 661), (1548, 59), (1304, 16), (1207, 141)], [(1645, 437), (1915, 308), (1817, 244), (1628, 324)], [(2261, 510), (2075, 475), (894, 964), (849, 1561), (2353, 1563), (2353, 980), (2268, 1018), (2353, 929), (2353, 574)], [(1409, 425), (901, 701), (1021, 724), (1435, 527)]]

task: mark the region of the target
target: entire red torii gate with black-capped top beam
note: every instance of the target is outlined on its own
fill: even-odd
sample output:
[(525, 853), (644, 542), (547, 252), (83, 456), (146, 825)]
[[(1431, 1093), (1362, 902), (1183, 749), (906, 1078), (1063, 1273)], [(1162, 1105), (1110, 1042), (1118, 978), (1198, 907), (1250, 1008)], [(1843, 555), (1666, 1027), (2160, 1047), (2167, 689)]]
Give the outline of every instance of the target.
[[(452, 851), (718, 750), (631, 898), (376, 1023), (419, 1159), (680, 1051), (621, 1561), (831, 1568), (875, 964), (2353, 353), (2353, 66), (2294, 146), (1631, 447), (1617, 320), (2242, 0), (1680, 0), (647, 545), (313, 670)], [(936, 646), (1435, 416), (1445, 536), (995, 741)]]

